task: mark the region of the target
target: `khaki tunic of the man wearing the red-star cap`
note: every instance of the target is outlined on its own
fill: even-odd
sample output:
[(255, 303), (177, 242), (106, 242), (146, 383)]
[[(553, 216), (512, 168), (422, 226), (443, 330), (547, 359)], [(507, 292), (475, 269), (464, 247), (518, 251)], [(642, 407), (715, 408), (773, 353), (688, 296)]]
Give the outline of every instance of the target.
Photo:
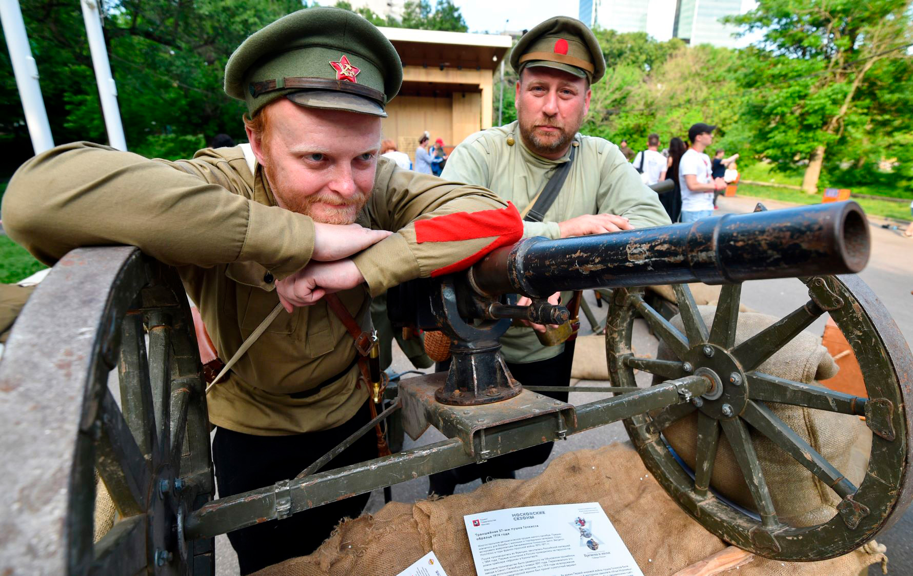
[[(78, 246), (126, 244), (178, 267), (227, 360), (278, 303), (272, 278), (307, 265), (314, 249), (310, 217), (278, 207), (261, 167), (251, 171), (252, 165), (241, 147), (166, 162), (89, 142), (58, 146), (13, 176), (3, 200), (4, 226), (47, 264)], [(506, 205), (483, 188), (402, 170), (380, 158), (372, 197), (357, 222), (396, 234), (352, 258), (366, 284), (341, 292), (341, 301), (370, 326), (371, 296), (428, 277), (493, 239), (418, 244), (416, 219)], [(227, 382), (210, 392), (210, 421), (254, 435), (343, 424), (368, 394), (357, 384), (355, 354), (352, 336), (322, 300), (292, 314), (282, 310)], [(289, 395), (341, 372), (316, 393)]]

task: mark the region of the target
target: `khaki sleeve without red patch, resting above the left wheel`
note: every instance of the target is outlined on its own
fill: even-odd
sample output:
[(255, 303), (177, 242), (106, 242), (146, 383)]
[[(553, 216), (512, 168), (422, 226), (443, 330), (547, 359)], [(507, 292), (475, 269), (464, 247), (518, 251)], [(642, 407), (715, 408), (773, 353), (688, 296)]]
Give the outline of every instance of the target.
[(310, 218), (176, 168), (86, 142), (58, 146), (10, 181), (5, 229), (47, 264), (105, 245), (139, 246), (173, 266), (255, 261), (277, 278), (308, 263)]

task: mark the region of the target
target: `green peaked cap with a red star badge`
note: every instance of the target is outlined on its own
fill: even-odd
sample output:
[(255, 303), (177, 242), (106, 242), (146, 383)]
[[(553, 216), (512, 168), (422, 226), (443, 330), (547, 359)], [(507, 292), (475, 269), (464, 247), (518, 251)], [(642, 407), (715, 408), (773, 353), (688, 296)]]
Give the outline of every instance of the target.
[(313, 108), (386, 116), (403, 84), (393, 44), (362, 16), (305, 8), (247, 37), (228, 58), (226, 94), (253, 118), (280, 97)]

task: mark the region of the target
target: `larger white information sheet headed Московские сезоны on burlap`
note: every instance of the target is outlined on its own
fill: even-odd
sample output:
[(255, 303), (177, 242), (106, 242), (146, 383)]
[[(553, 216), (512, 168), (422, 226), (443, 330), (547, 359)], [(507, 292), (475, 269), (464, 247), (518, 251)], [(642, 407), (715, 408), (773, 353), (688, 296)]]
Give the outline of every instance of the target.
[(477, 576), (643, 576), (598, 502), (464, 516)]

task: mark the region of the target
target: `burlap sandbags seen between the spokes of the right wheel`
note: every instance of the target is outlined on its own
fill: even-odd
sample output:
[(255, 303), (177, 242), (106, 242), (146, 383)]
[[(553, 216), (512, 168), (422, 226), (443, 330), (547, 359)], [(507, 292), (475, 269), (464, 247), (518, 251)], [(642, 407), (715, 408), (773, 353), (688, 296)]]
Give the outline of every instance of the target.
[[(713, 322), (713, 307), (699, 307), (708, 328)], [(770, 326), (778, 318), (765, 314), (739, 315), (736, 343), (747, 340)], [(682, 330), (680, 317), (671, 320)], [(660, 344), (657, 358), (672, 360), (675, 355)], [(761, 364), (759, 372), (779, 376), (795, 382), (816, 383), (833, 377), (837, 372), (834, 359), (821, 345), (821, 339), (802, 332), (770, 359)], [(654, 382), (663, 379), (654, 377)], [(810, 410), (799, 406), (767, 403), (796, 434), (803, 437), (845, 477), (858, 486), (866, 476), (872, 435), (858, 416)], [(666, 428), (666, 439), (688, 466), (694, 466), (698, 414)], [(792, 459), (771, 440), (750, 428), (751, 438), (761, 462), (761, 470), (771, 491), (773, 506), (780, 519), (794, 527), (821, 524), (836, 514), (840, 498), (834, 491)], [(717, 459), (713, 466), (712, 486), (720, 493), (745, 508), (755, 509), (748, 486), (736, 463), (735, 456), (725, 435), (720, 435)]]

